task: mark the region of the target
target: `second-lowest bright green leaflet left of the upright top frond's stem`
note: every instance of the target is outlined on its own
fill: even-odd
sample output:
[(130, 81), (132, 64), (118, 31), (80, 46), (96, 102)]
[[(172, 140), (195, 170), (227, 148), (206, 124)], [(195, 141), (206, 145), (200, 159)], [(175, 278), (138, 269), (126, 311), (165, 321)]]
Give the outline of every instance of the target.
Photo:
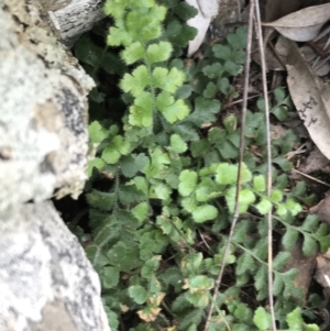
[(145, 89), (150, 84), (150, 78), (145, 65), (141, 65), (132, 71), (132, 75), (125, 74), (120, 82), (124, 92), (131, 92), (134, 97)]

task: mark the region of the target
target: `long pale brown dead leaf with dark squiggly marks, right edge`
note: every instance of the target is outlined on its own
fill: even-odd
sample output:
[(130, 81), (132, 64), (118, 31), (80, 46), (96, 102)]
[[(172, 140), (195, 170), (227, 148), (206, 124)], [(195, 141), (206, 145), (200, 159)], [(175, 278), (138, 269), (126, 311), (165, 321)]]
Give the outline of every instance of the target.
[(330, 159), (329, 97), (322, 96), (321, 82), (311, 73), (296, 43), (287, 40), (287, 84), (300, 119), (322, 154)]

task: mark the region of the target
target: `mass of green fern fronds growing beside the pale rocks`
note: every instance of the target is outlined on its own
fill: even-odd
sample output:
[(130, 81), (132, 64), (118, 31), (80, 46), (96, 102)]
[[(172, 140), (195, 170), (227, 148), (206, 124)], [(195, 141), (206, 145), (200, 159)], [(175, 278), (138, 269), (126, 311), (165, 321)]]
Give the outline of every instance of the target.
[[(108, 47), (86, 37), (76, 47), (97, 81), (98, 68), (117, 75), (121, 93), (112, 100), (120, 107), (110, 119), (99, 87), (90, 99), (95, 157), (86, 187), (91, 230), (86, 252), (100, 275), (112, 330), (121, 319), (131, 320), (131, 331), (197, 331), (205, 323), (237, 199), (240, 119), (222, 113), (219, 100), (239, 96), (233, 77), (244, 64), (246, 30), (229, 33), (202, 59), (186, 63), (179, 56), (196, 31), (184, 21), (196, 10), (185, 1), (107, 0), (105, 11), (113, 19)], [(276, 89), (274, 100), (272, 113), (283, 120), (290, 106), (285, 90)], [(257, 107), (263, 110), (262, 99)], [(298, 239), (310, 255), (327, 250), (330, 236), (317, 218), (300, 218), (306, 187), (289, 186), (292, 164), (284, 157), (296, 140), (293, 132), (273, 141), (274, 188), (267, 197), (263, 121), (262, 112), (248, 112), (240, 220), (226, 261), (230, 280), (209, 331), (270, 329), (263, 308), (270, 211), (274, 229), (284, 233), (274, 250), (276, 320), (283, 330), (318, 330), (294, 310), (302, 294), (294, 283), (297, 271), (284, 267)], [(260, 151), (257, 157), (251, 146)]]

